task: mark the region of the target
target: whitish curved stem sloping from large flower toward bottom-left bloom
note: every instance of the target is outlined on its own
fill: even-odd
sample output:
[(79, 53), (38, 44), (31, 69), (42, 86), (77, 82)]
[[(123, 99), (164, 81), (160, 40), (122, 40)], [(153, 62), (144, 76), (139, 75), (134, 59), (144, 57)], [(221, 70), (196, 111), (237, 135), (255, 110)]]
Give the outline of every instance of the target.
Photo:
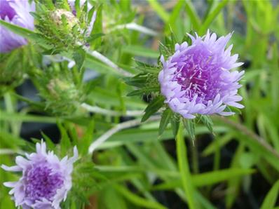
[[(161, 119), (161, 116), (151, 116), (149, 118), (148, 122), (158, 121), (159, 119)], [(88, 149), (88, 154), (93, 154), (93, 151), (95, 151), (95, 149), (97, 147), (99, 147), (102, 143), (104, 143), (106, 140), (108, 140), (109, 137), (111, 137), (111, 135), (114, 135), (115, 133), (117, 133), (120, 130), (123, 130), (126, 128), (132, 128), (133, 126), (138, 126), (138, 125), (140, 125), (140, 123), (142, 123), (141, 119), (135, 119), (132, 121), (126, 121), (126, 122), (117, 124), (116, 126), (114, 126), (114, 128), (111, 128), (106, 133), (104, 133), (99, 138), (97, 138), (97, 140), (95, 140), (93, 143), (90, 144), (90, 147)]]

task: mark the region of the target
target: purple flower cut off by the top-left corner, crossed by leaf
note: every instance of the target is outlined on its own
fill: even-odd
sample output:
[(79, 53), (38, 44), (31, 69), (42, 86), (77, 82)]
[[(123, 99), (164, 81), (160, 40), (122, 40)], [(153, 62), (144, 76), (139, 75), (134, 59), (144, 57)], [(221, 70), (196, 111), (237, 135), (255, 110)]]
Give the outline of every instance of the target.
[[(14, 25), (34, 29), (34, 18), (29, 12), (35, 11), (35, 4), (28, 0), (0, 0), (0, 18)], [(7, 53), (14, 48), (27, 44), (27, 40), (0, 25), (0, 53)]]

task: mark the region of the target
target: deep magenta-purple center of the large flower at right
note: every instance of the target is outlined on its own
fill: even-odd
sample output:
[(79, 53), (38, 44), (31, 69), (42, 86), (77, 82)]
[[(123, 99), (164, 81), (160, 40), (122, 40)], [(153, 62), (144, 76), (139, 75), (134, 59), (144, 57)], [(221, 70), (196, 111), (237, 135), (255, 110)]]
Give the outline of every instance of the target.
[(213, 100), (219, 93), (219, 67), (212, 63), (208, 51), (183, 55), (175, 67), (177, 71), (173, 81), (182, 86), (184, 97), (189, 101), (197, 95), (197, 103), (207, 104), (208, 100)]

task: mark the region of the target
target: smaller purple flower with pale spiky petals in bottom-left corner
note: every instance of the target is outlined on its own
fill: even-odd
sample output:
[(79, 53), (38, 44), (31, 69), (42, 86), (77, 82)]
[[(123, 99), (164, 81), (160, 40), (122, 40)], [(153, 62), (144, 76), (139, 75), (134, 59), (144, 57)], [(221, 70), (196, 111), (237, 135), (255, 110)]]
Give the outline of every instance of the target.
[(23, 209), (60, 208), (60, 202), (65, 201), (67, 192), (72, 187), (71, 173), (73, 163), (78, 159), (78, 151), (74, 147), (74, 156), (65, 156), (61, 161), (53, 151), (46, 152), (46, 144), (36, 144), (36, 152), (26, 154), (27, 159), (17, 156), (17, 166), (1, 167), (4, 170), (22, 172), (18, 182), (5, 182), (11, 187), (9, 194), (13, 194), (15, 206)]

